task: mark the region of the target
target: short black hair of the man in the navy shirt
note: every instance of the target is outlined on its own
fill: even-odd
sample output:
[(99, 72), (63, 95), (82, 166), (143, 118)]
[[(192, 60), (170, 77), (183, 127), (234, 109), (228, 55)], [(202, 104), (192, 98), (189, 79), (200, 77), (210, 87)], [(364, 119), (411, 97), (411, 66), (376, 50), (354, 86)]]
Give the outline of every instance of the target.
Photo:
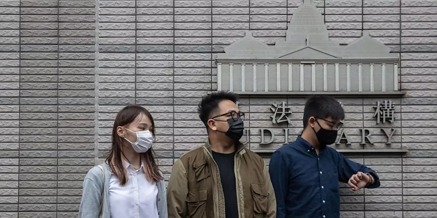
[(336, 99), (327, 95), (313, 95), (306, 100), (303, 109), (303, 128), (308, 125), (310, 117), (344, 120), (344, 110)]

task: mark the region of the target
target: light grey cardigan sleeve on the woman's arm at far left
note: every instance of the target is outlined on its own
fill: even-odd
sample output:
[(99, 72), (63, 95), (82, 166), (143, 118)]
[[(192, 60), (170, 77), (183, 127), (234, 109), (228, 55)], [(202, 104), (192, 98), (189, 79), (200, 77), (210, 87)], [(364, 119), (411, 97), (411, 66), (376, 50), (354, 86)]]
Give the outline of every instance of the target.
[(98, 218), (100, 215), (102, 185), (99, 187), (90, 178), (84, 179), (79, 218)]

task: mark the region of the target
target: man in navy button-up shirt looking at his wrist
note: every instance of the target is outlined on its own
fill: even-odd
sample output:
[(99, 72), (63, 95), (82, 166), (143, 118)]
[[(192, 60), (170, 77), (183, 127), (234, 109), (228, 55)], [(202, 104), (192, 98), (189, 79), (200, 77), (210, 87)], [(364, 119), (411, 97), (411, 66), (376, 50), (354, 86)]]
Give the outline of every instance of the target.
[(307, 100), (302, 135), (270, 159), (277, 218), (338, 218), (338, 181), (353, 191), (380, 186), (375, 171), (327, 147), (336, 141), (343, 119), (344, 110), (334, 98), (319, 95)]

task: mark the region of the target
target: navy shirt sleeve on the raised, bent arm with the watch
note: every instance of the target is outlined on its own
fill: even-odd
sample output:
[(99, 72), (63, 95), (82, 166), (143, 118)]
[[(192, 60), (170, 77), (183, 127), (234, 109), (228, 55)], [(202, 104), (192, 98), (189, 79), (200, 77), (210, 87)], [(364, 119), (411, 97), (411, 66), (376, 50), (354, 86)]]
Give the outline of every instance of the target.
[(336, 153), (338, 155), (338, 179), (340, 180), (340, 182), (348, 183), (349, 179), (353, 174), (357, 172), (364, 172), (364, 173), (370, 173), (375, 179), (375, 183), (373, 183), (373, 185), (370, 185), (367, 188), (376, 188), (381, 185), (379, 181), (379, 176), (374, 170), (362, 164), (353, 162), (352, 160), (344, 157), (342, 154), (338, 152)]

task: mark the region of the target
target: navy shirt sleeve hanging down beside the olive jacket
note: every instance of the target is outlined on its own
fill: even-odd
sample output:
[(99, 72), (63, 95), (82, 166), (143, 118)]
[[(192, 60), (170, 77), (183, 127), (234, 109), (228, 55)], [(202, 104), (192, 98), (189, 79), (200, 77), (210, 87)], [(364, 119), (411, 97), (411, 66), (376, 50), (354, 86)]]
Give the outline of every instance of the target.
[(276, 151), (271, 156), (269, 173), (276, 196), (276, 218), (286, 218), (288, 164), (281, 152)]

